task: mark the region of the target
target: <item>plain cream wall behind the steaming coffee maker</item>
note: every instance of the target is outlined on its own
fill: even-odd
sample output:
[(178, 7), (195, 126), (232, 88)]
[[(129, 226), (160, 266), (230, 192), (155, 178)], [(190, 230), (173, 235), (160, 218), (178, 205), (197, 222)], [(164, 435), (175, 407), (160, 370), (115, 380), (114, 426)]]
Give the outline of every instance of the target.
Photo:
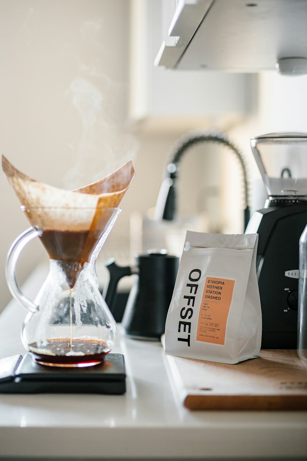
[[(182, 134), (173, 128), (132, 135), (127, 128), (129, 1), (1, 0), (0, 33), (0, 153), (30, 177), (66, 188), (103, 177), (132, 157), (136, 177), (106, 244), (108, 255), (126, 249), (130, 215), (155, 206), (168, 150)], [(197, 208), (199, 165), (202, 149), (182, 163), (180, 214)], [(6, 254), (29, 223), (2, 173), (0, 195), (1, 311), (11, 298)], [(31, 242), (18, 264), (20, 283), (41, 259), (47, 262), (41, 243)]]

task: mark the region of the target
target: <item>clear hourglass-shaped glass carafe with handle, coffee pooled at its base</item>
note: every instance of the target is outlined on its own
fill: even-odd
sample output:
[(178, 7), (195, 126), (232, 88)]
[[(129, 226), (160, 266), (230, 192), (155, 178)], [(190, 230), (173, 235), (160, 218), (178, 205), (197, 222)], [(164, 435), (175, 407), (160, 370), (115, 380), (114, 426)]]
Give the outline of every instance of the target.
[[(9, 289), (29, 310), (21, 332), (25, 349), (42, 365), (101, 363), (115, 344), (116, 322), (98, 290), (95, 261), (121, 209), (22, 209), (31, 223), (40, 224), (17, 237), (6, 261)], [(74, 223), (75, 219), (68, 229), (56, 218), (63, 213), (65, 223)], [(82, 228), (82, 217), (86, 217), (85, 223), (90, 222), (89, 226)], [(56, 229), (50, 225), (52, 222), (57, 222)], [(15, 268), (21, 250), (36, 236), (49, 254), (50, 269), (33, 302), (20, 291)]]

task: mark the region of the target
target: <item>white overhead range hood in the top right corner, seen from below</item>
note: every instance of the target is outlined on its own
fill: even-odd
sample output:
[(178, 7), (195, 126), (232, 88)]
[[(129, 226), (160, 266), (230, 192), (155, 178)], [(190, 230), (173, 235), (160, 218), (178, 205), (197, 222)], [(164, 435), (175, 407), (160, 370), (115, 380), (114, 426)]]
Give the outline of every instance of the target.
[(307, 0), (179, 0), (155, 65), (302, 75)]

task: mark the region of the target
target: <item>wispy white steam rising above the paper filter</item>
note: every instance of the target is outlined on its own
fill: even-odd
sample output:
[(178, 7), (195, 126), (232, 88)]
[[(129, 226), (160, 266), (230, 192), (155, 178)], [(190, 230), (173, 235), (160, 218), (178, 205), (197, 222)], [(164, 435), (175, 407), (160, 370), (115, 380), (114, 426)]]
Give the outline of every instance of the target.
[(70, 143), (73, 166), (64, 177), (67, 189), (77, 189), (107, 176), (128, 160), (134, 160), (137, 151), (137, 142), (115, 110), (122, 110), (125, 104), (125, 85), (113, 83), (106, 76), (107, 69), (103, 69), (106, 49), (100, 22), (85, 21), (80, 40), (78, 48), (82, 53), (77, 61), (81, 75), (66, 92), (81, 120), (80, 136)]

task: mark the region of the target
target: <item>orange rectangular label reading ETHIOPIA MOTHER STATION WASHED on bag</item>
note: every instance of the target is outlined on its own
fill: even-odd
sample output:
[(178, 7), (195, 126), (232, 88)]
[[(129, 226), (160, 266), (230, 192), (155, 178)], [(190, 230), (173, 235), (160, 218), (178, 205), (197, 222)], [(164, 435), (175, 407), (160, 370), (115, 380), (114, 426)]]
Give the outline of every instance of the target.
[(228, 312), (235, 280), (207, 277), (197, 323), (197, 341), (225, 344)]

